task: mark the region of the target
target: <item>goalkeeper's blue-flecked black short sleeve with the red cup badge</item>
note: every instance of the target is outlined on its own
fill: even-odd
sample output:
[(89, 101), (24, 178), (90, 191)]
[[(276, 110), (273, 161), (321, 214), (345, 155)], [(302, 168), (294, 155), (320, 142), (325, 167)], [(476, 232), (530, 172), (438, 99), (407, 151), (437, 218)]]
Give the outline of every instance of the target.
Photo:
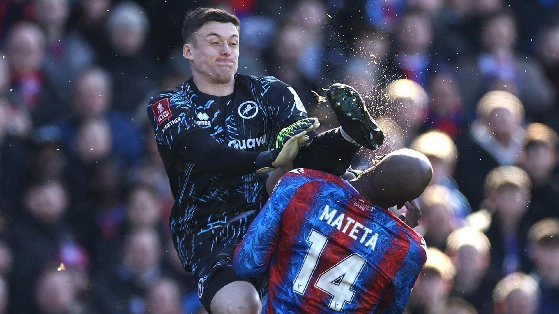
[(196, 123), (194, 112), (182, 93), (161, 94), (152, 97), (148, 117), (155, 131), (157, 144), (175, 149), (179, 140), (193, 131), (202, 130)]

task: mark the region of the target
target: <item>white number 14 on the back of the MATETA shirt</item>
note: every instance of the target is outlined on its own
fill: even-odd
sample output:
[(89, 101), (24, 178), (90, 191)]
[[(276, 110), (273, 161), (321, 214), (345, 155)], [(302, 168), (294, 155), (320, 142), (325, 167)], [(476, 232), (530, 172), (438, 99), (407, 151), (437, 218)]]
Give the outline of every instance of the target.
[[(305, 294), (307, 286), (309, 286), (320, 255), (322, 255), (328, 242), (328, 237), (312, 229), (306, 241), (310, 244), (309, 249), (305, 255), (303, 265), (293, 282), (293, 291), (301, 295)], [(353, 300), (355, 291), (352, 290), (352, 287), (363, 270), (364, 265), (365, 259), (361, 255), (354, 253), (319, 275), (314, 286), (332, 296), (328, 304), (329, 308), (341, 312), (345, 303), (350, 303)]]

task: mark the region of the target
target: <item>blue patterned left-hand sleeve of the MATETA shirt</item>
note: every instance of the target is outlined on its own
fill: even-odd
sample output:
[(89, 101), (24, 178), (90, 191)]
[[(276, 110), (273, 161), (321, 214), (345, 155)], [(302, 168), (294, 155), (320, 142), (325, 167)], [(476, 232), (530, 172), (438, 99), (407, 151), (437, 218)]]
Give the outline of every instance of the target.
[(237, 246), (233, 269), (239, 277), (258, 277), (267, 272), (271, 256), (276, 250), (283, 210), (302, 183), (303, 176), (295, 171), (288, 172), (278, 181), (272, 196)]

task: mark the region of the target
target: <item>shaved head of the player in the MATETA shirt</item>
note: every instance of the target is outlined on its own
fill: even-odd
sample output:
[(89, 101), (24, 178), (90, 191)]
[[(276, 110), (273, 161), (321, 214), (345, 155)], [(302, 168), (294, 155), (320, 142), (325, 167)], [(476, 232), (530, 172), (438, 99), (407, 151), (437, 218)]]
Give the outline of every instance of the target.
[(399, 149), (355, 179), (353, 185), (373, 204), (388, 208), (418, 198), (432, 177), (433, 168), (427, 156)]

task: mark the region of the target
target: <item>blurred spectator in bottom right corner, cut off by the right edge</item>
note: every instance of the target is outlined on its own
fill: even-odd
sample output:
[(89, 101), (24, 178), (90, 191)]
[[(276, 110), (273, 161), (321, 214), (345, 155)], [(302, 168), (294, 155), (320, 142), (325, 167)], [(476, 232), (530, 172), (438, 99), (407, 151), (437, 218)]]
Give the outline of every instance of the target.
[(555, 313), (559, 308), (559, 220), (545, 218), (534, 223), (528, 237), (536, 265), (531, 275), (542, 293), (538, 313)]

